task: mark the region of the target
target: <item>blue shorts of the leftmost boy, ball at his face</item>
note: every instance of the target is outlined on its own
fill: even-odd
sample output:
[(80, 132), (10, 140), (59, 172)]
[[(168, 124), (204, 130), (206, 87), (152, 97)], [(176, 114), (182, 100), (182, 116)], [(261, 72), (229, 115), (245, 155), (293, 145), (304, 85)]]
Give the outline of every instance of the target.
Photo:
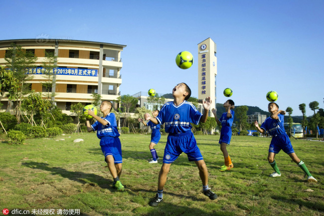
[[(105, 156), (112, 155), (115, 160), (115, 164), (123, 163), (122, 157), (122, 144), (119, 137), (103, 137), (100, 140), (101, 151)], [(107, 161), (106, 161), (107, 162)]]

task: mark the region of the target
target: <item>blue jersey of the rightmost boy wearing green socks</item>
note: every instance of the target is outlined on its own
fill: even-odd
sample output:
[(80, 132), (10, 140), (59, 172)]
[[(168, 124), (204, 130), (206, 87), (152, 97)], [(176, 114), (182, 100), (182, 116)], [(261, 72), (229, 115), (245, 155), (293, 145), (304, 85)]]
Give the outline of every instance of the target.
[(286, 134), (284, 128), (284, 115), (278, 114), (278, 119), (266, 118), (262, 123), (261, 128), (268, 131), (270, 136)]

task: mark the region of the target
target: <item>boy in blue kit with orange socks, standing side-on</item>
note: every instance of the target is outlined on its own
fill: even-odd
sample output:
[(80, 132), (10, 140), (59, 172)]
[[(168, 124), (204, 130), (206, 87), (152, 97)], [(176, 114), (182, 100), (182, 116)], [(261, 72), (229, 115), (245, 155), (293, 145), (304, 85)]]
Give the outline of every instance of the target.
[(220, 119), (217, 118), (216, 115), (216, 110), (212, 109), (211, 112), (214, 114), (215, 116), (215, 120), (217, 122), (217, 124), (221, 124), (222, 125), (222, 129), (220, 131), (220, 138), (219, 138), (219, 144), (220, 144), (220, 150), (222, 151), (223, 155), (224, 155), (224, 161), (225, 161), (225, 165), (222, 166), (220, 168), (220, 171), (226, 171), (226, 170), (230, 170), (231, 168), (233, 168), (233, 164), (232, 164), (232, 160), (229, 157), (229, 154), (227, 152), (227, 145), (229, 145), (230, 141), (231, 141), (231, 137), (232, 137), (232, 125), (233, 125), (233, 120), (234, 120), (234, 111), (231, 109), (234, 109), (234, 101), (232, 100), (227, 100), (223, 106), (226, 109), (226, 112), (224, 112), (222, 114), (222, 116), (220, 117)]

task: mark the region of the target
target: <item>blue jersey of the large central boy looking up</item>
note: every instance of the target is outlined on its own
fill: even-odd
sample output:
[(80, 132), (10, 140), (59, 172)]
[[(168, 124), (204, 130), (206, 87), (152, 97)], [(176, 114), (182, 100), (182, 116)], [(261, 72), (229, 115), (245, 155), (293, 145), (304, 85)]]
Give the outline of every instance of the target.
[(191, 131), (190, 123), (199, 124), (202, 114), (192, 103), (183, 101), (179, 106), (175, 106), (173, 101), (165, 103), (157, 120), (160, 124), (165, 123), (165, 132), (170, 134), (180, 134)]

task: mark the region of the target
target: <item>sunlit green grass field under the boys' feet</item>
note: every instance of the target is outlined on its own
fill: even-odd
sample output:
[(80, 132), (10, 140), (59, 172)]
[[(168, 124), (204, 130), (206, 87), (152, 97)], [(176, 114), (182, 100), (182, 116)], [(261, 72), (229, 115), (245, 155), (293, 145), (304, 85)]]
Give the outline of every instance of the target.
[[(74, 143), (76, 138), (84, 141)], [(30, 139), (25, 145), (1, 142), (0, 211), (18, 209), (32, 215), (37, 210), (41, 215), (54, 209), (55, 215), (59, 210), (73, 215), (72, 210), (80, 210), (83, 216), (324, 215), (324, 142), (292, 140), (297, 156), (319, 181), (307, 183), (304, 172), (284, 152), (276, 156), (282, 176), (268, 177), (273, 172), (267, 161), (271, 138), (232, 137), (227, 150), (234, 168), (219, 172), (224, 163), (219, 136), (196, 136), (209, 186), (218, 199), (201, 194), (198, 169), (181, 154), (170, 168), (163, 203), (154, 208), (148, 203), (157, 191), (162, 160), (148, 164), (150, 135), (123, 134), (120, 139), (124, 192), (111, 187), (95, 133)], [(161, 158), (165, 143), (162, 136), (156, 146)]]

